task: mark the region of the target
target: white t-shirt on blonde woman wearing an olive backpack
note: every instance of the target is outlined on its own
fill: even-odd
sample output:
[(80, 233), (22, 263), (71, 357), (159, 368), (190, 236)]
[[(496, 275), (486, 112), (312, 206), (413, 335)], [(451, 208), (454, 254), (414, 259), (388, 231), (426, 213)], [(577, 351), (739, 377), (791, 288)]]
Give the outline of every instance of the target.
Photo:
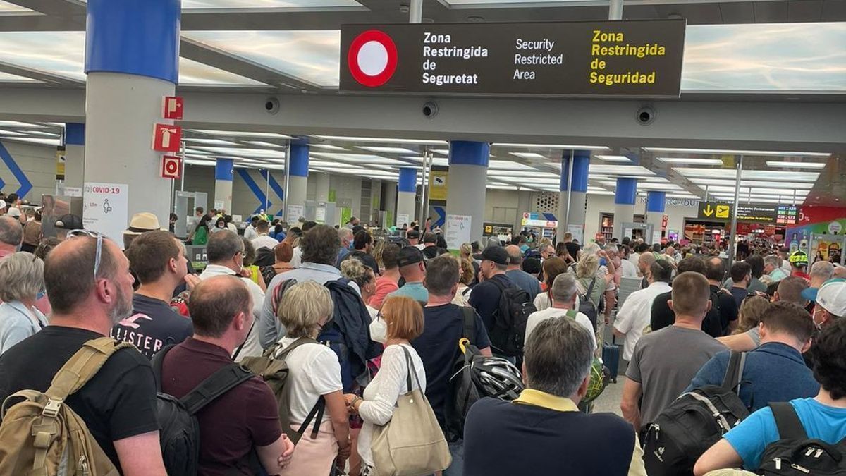
[[(296, 339), (292, 337), (279, 340), (282, 344), (280, 351), (293, 344), (294, 340)], [(305, 422), (321, 395), (343, 390), (341, 364), (338, 363), (338, 355), (322, 344), (299, 346), (285, 357), (285, 362), (288, 363), (290, 371), (288, 383), (285, 385), (290, 392), (290, 423), (300, 425)], [(323, 412), (321, 423), (331, 418), (329, 412)]]

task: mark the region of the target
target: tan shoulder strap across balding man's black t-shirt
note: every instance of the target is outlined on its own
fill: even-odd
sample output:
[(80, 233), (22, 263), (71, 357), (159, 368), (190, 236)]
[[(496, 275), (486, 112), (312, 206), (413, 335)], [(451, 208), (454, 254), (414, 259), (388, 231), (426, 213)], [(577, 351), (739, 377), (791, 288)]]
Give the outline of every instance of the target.
[(51, 400), (64, 401), (88, 383), (106, 363), (108, 357), (128, 347), (132, 347), (132, 344), (111, 337), (100, 337), (85, 342), (82, 348), (58, 369), (45, 394)]

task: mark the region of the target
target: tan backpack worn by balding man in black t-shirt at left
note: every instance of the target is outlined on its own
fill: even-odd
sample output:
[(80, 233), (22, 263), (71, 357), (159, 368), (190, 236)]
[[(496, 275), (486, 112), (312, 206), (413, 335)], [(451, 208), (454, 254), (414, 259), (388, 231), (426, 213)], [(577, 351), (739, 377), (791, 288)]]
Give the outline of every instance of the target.
[(58, 370), (47, 391), (8, 396), (0, 423), (0, 474), (118, 476), (85, 421), (64, 401), (116, 351), (131, 346), (111, 337), (89, 340)]

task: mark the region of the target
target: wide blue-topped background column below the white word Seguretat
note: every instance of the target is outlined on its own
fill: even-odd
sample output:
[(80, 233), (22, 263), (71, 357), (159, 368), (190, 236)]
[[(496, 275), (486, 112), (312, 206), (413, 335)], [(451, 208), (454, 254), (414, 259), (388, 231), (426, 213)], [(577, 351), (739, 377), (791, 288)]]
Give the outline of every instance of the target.
[[(484, 230), (487, 165), (490, 158), (491, 144), (488, 142), (449, 143), (447, 209), (442, 218), (446, 219), (447, 214), (470, 217), (470, 241), (481, 240)], [(463, 226), (466, 225), (465, 221)], [(450, 236), (448, 230), (444, 231)], [(458, 250), (461, 243), (448, 241), (447, 246), (450, 250)]]

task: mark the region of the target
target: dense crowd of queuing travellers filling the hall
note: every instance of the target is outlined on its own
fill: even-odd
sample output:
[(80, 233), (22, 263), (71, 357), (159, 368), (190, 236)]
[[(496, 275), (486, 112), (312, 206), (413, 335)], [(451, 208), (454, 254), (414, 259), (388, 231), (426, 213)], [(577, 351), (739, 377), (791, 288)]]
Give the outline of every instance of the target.
[[(846, 281), (831, 263), (750, 252), (727, 269), (672, 243), (569, 234), (453, 253), (431, 220), (377, 240), (357, 219), (255, 217), (239, 235), (226, 217), (195, 210), (200, 274), (184, 241), (144, 224), (154, 216), (133, 217), (125, 250), (80, 229), (30, 240), (34, 254), (19, 251), (25, 222), (0, 217), (3, 411), (74, 412), (104, 455), (82, 458), (96, 474), (173, 474), (171, 399), (195, 418), (179, 431), (196, 431), (203, 476), (643, 475), (654, 423), (722, 385), (738, 352), (749, 415), (689, 455), (687, 473), (767, 464), (783, 439), (771, 403), (789, 401), (810, 439), (846, 436)], [(640, 289), (621, 294), (623, 280)], [(592, 404), (618, 367), (615, 338), (622, 418)], [(91, 349), (100, 366), (77, 365)], [(0, 423), (0, 473), (72, 445), (33, 422)], [(423, 457), (386, 444), (424, 433)]]

